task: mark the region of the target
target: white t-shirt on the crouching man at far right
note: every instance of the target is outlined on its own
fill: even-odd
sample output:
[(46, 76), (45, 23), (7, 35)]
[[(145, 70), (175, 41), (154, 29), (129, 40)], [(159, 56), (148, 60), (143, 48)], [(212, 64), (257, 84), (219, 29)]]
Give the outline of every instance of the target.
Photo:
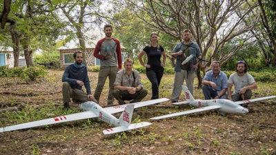
[(248, 73), (239, 76), (237, 72), (235, 72), (229, 76), (228, 83), (235, 85), (233, 94), (238, 94), (242, 87), (255, 83), (255, 79)]

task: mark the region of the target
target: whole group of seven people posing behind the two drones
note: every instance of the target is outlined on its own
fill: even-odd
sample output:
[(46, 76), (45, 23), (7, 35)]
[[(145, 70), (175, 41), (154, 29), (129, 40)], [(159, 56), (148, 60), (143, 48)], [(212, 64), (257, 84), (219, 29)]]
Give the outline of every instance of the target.
[[(99, 40), (95, 47), (94, 56), (100, 60), (100, 70), (98, 76), (97, 87), (95, 94), (92, 95), (90, 89), (90, 81), (88, 78), (88, 70), (83, 65), (83, 53), (77, 51), (73, 54), (75, 63), (68, 65), (63, 73), (62, 94), (63, 106), (66, 110), (70, 109), (70, 101), (94, 101), (99, 103), (103, 85), (106, 79), (109, 79), (108, 104), (113, 105), (114, 98), (119, 104), (125, 104), (125, 101), (130, 103), (139, 102), (148, 94), (148, 90), (141, 83), (139, 72), (133, 69), (132, 59), (125, 59), (124, 69), (121, 69), (121, 47), (120, 42), (112, 37), (112, 25), (104, 25), (103, 32), (106, 37)], [(175, 45), (172, 50), (172, 58), (176, 59), (175, 63), (175, 80), (172, 90), (172, 103), (179, 101), (181, 94), (181, 85), (186, 81), (186, 85), (193, 94), (193, 82), (195, 79), (195, 71), (201, 59), (199, 45), (191, 41), (190, 30), (184, 30), (180, 43)], [(147, 62), (144, 62), (143, 56), (146, 54)], [(161, 59), (162, 57), (162, 59)], [(166, 52), (158, 43), (158, 34), (152, 32), (150, 34), (150, 44), (141, 50), (138, 54), (138, 59), (141, 65), (146, 68), (146, 76), (152, 84), (151, 99), (159, 98), (159, 85), (161, 78), (164, 75), (164, 65), (166, 63)], [(185, 63), (185, 60), (189, 59)], [(213, 61), (212, 70), (206, 73), (203, 83), (203, 92), (205, 99), (230, 99), (233, 101), (248, 99), (257, 85), (253, 77), (246, 73), (246, 63), (238, 61), (237, 73), (232, 74), (227, 79), (226, 74), (220, 71), (219, 61)], [(83, 91), (83, 85), (86, 87), (86, 92)], [(233, 96), (231, 96), (231, 87), (235, 85)], [(227, 96), (228, 93), (228, 96)], [(249, 97), (250, 98), (250, 97)]]

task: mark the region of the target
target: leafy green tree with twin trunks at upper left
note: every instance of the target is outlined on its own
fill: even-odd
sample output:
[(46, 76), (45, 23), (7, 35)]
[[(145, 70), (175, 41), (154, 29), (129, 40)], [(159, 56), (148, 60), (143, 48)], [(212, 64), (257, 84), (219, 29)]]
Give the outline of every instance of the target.
[[(14, 48), (14, 67), (18, 66), (19, 45), (22, 46), (27, 66), (34, 66), (32, 49), (36, 50), (37, 44), (49, 45), (57, 39), (60, 25), (53, 16), (47, 1), (17, 1), (10, 6), (6, 30), (10, 31), (10, 39)], [(48, 39), (46, 39), (48, 38)], [(45, 41), (47, 40), (47, 41)]]

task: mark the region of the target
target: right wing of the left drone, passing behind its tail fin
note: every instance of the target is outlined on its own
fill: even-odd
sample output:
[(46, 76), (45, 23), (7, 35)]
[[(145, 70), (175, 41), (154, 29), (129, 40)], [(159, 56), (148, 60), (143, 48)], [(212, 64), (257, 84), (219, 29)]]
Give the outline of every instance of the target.
[[(148, 105), (154, 105), (154, 104), (169, 101), (169, 100), (170, 99), (167, 99), (167, 98), (161, 98), (161, 99), (153, 99), (153, 100), (149, 100), (149, 101), (141, 101), (141, 102), (131, 103), (131, 104), (134, 104), (134, 108), (136, 109), (138, 107), (145, 107), (145, 106), (148, 106)], [(117, 112), (123, 112), (125, 110), (126, 105), (128, 105), (128, 104), (115, 105), (115, 106), (112, 106), (112, 107), (105, 107), (103, 109), (106, 110), (106, 112), (108, 112), (110, 114), (115, 114)]]

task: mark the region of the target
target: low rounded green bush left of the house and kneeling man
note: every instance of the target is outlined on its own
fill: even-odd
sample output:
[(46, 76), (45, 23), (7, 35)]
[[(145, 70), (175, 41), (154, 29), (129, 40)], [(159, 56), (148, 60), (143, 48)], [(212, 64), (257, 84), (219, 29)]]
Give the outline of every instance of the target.
[(29, 67), (23, 71), (24, 76), (28, 77), (31, 81), (35, 81), (39, 77), (46, 76), (47, 72), (42, 68)]

